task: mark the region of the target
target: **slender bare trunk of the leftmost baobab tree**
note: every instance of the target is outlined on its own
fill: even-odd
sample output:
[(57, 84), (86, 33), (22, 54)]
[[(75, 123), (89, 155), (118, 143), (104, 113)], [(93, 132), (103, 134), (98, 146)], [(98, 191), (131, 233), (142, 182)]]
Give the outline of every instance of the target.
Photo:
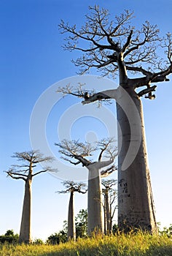
[(31, 243), (31, 178), (27, 178), (20, 225), (20, 243)]

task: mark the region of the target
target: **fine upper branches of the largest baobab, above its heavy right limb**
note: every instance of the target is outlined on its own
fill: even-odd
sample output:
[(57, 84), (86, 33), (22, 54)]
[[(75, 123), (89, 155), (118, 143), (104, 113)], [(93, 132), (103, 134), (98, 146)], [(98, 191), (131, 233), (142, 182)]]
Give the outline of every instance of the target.
[[(87, 72), (90, 67), (97, 67), (103, 75), (116, 75), (118, 71), (117, 57), (120, 53), (125, 60), (126, 68), (130, 72), (147, 75), (151, 72), (169, 72), (171, 68), (171, 34), (160, 37), (157, 25), (149, 21), (136, 29), (130, 25), (134, 18), (133, 12), (125, 10), (110, 20), (109, 10), (98, 6), (89, 7), (90, 14), (85, 15), (86, 22), (80, 29), (69, 26), (61, 20), (59, 25), (62, 34), (69, 34), (65, 38), (65, 50), (79, 50), (83, 53), (76, 61), (80, 73)], [(82, 44), (82, 42), (84, 42)], [(81, 46), (79, 46), (81, 45)], [(157, 53), (164, 49), (167, 59)], [(144, 66), (144, 67), (142, 67)]]

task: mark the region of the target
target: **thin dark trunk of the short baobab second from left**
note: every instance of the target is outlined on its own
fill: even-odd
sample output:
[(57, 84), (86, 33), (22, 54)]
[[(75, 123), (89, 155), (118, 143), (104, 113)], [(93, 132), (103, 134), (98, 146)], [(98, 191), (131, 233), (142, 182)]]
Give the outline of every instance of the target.
[(71, 192), (68, 212), (68, 240), (76, 240), (75, 219), (74, 219), (74, 192)]

